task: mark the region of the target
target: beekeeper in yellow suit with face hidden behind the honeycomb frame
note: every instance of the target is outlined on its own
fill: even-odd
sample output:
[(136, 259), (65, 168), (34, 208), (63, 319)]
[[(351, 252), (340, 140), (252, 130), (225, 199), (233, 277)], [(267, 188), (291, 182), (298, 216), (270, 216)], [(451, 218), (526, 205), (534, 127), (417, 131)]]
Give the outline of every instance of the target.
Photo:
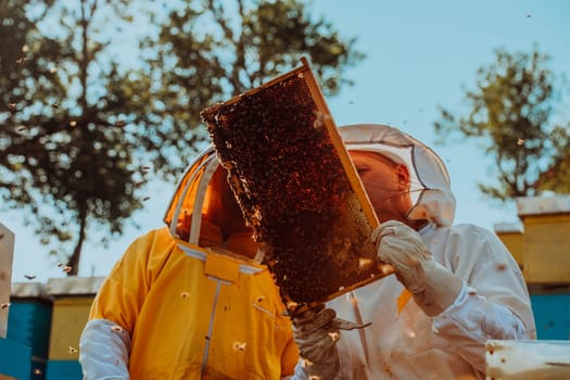
[(213, 149), (185, 174), (165, 221), (100, 288), (80, 339), (85, 379), (292, 375), (291, 320)]

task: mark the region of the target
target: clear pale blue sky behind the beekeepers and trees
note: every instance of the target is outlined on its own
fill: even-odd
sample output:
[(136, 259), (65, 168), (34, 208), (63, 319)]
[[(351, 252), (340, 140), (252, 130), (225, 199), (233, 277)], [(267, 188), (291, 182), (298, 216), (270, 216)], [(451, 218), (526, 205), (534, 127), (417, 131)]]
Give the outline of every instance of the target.
[[(322, 14), (343, 36), (356, 37), (367, 59), (347, 72), (355, 86), (327, 99), (338, 125), (383, 123), (400, 127), (433, 145), (438, 105), (465, 113), (461, 86), (472, 88), (476, 72), (493, 62), (493, 50), (530, 52), (534, 45), (552, 56), (548, 65), (570, 78), (570, 1), (566, 0), (315, 0), (309, 10)], [(559, 117), (570, 121), (569, 93)], [(433, 147), (447, 165), (457, 198), (455, 223), (493, 229), (517, 221), (514, 204), (484, 199), (477, 182), (493, 178), (491, 161), (477, 142)], [(155, 183), (139, 212), (141, 229), (126, 228), (121, 239), (103, 248), (97, 233), (89, 237), (79, 276), (105, 276), (127, 245), (147, 229), (162, 226), (176, 183)], [(4, 218), (5, 216), (5, 218)], [(65, 277), (47, 257), (33, 231), (15, 213), (0, 221), (16, 233), (13, 281)]]

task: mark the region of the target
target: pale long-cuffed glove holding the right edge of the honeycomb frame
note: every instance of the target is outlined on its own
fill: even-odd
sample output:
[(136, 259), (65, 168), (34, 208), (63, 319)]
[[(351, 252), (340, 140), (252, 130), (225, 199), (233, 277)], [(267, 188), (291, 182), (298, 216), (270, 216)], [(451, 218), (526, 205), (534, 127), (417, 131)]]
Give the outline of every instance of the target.
[(464, 281), (433, 259), (419, 233), (405, 224), (388, 220), (371, 235), (378, 258), (392, 264), (396, 278), (432, 317), (453, 304)]

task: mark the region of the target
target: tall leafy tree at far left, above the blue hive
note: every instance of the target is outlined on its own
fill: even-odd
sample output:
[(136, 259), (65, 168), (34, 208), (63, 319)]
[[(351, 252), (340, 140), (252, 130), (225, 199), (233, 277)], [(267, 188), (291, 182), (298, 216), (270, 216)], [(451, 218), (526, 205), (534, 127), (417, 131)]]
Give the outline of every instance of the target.
[[(144, 112), (131, 96), (139, 85), (136, 73), (107, 61), (110, 37), (94, 25), (111, 13), (116, 22), (125, 4), (10, 0), (0, 9), (3, 205), (24, 211), (42, 243), (73, 244), (71, 255), (51, 251), (68, 256), (69, 275), (77, 274), (89, 221), (118, 233), (142, 205), (136, 183), (144, 176), (134, 155), (141, 138), (125, 126)], [(54, 22), (52, 36), (37, 26)]]

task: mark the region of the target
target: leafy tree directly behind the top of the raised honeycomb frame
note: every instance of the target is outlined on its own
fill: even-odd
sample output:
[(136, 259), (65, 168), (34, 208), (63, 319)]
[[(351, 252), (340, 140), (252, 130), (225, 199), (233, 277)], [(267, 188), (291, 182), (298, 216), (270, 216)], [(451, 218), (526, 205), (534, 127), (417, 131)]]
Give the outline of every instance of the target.
[[(352, 85), (344, 72), (365, 55), (322, 17), (313, 21), (296, 0), (205, 0), (173, 9), (155, 39), (144, 42), (161, 125), (163, 156), (176, 169), (208, 141), (200, 111), (311, 62), (326, 94)], [(170, 154), (168, 154), (168, 152)], [(173, 152), (177, 152), (181, 161)]]

